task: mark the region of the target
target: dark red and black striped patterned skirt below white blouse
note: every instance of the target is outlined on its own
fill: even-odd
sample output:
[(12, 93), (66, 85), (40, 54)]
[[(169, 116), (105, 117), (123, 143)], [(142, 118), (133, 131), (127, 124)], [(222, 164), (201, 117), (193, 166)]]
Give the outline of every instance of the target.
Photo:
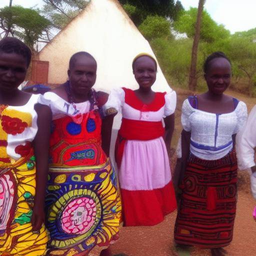
[(228, 245), (233, 235), (236, 182), (235, 150), (217, 160), (190, 154), (180, 185), (175, 242), (207, 248)]

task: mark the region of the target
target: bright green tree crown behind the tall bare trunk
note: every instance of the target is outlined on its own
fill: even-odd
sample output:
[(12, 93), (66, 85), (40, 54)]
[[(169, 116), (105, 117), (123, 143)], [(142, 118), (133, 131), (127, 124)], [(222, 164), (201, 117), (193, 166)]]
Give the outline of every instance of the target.
[[(193, 39), (195, 35), (197, 8), (190, 8), (183, 11), (179, 18), (173, 23), (173, 28), (185, 33), (188, 38)], [(202, 11), (200, 24), (200, 41), (211, 43), (218, 39), (223, 39), (230, 36), (229, 30), (223, 25), (218, 25), (209, 15), (206, 10)]]

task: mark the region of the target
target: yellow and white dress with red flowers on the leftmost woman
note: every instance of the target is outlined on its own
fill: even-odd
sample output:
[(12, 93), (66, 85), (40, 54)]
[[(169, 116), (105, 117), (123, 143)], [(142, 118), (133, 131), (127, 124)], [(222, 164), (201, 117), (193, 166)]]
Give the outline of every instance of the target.
[(47, 231), (32, 231), (35, 196), (35, 158), (32, 141), (37, 132), (31, 95), (22, 106), (0, 105), (0, 255), (46, 254)]

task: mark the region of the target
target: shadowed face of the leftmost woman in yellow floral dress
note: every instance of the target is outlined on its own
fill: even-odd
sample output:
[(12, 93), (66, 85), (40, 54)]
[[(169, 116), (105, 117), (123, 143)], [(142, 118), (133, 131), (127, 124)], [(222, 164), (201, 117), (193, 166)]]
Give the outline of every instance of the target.
[(27, 61), (22, 55), (0, 51), (0, 91), (15, 90), (24, 81), (26, 70)]

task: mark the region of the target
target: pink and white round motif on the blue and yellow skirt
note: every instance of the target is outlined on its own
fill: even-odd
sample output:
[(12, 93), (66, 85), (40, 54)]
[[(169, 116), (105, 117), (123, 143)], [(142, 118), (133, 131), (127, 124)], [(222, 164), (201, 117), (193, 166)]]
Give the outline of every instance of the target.
[(94, 224), (96, 203), (86, 196), (70, 201), (61, 216), (62, 229), (66, 233), (84, 234)]

